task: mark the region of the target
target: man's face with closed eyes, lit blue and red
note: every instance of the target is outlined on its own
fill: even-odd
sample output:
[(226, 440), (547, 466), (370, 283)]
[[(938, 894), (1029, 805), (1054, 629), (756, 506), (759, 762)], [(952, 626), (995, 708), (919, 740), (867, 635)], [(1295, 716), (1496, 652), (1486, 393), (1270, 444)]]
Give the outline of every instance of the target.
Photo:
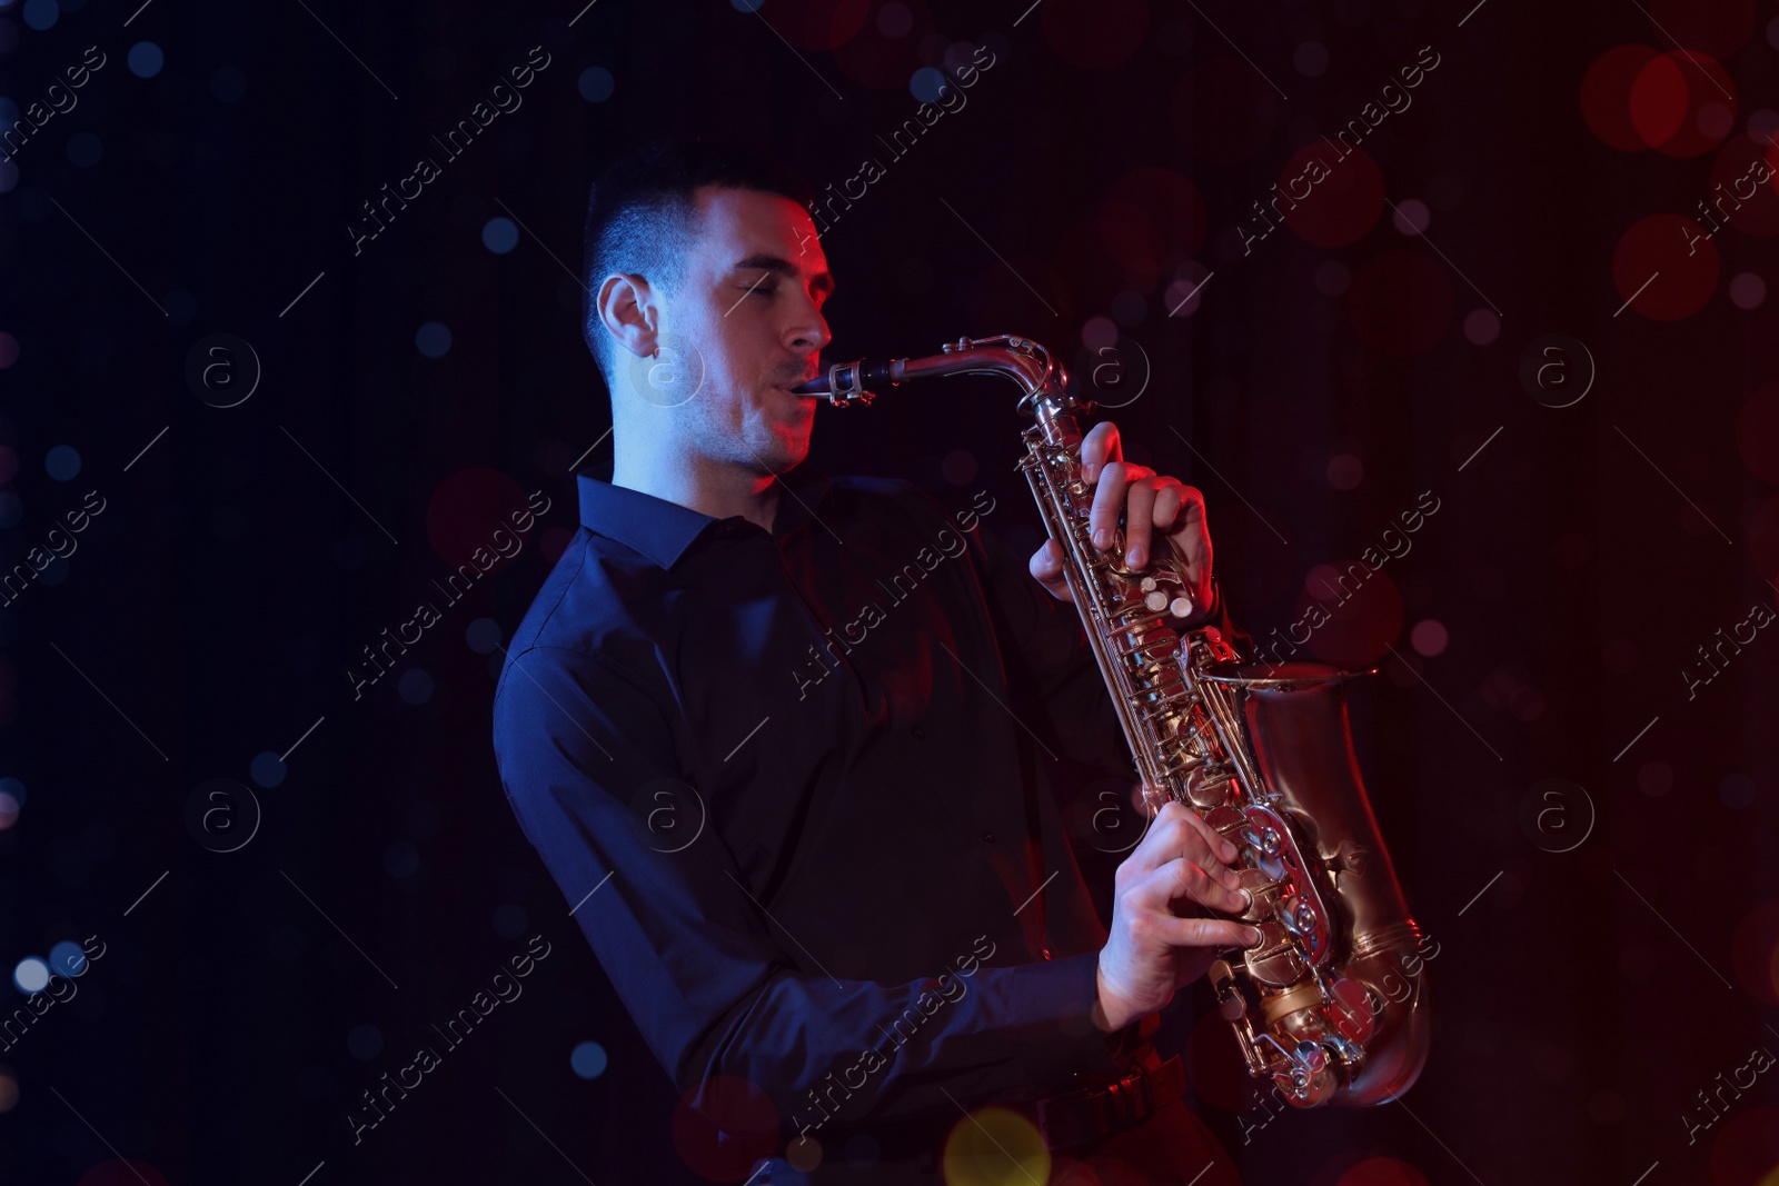
[(671, 411), (674, 427), (703, 457), (783, 473), (809, 453), (815, 397), (788, 388), (817, 373), (834, 281), (792, 199), (706, 187), (696, 206), (685, 279), (660, 320), (662, 357), (678, 347), (687, 357), (676, 365), (703, 366), (697, 395)]

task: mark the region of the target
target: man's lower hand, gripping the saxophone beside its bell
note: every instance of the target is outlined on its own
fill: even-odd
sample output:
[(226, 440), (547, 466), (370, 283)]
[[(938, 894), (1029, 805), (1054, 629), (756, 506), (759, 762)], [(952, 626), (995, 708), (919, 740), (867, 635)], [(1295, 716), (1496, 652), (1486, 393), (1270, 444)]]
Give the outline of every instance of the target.
[(1240, 914), (1247, 893), (1236, 889), (1236, 846), (1194, 811), (1169, 800), (1149, 834), (1117, 866), (1112, 937), (1099, 951), (1099, 1001), (1094, 1024), (1105, 1031), (1162, 1010), (1181, 985), (1206, 973), (1217, 953), (1251, 948), (1260, 932), (1222, 918), (1181, 918), (1176, 902)]

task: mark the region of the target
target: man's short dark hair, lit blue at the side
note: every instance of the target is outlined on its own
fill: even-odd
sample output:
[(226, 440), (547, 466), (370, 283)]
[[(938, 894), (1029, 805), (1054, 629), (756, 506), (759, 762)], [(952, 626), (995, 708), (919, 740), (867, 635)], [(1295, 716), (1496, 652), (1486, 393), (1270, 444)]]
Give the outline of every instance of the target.
[(696, 137), (658, 139), (607, 165), (587, 192), (582, 336), (608, 384), (614, 343), (594, 308), (600, 284), (628, 272), (672, 292), (685, 279), (697, 235), (694, 192), (704, 185), (781, 194), (806, 210), (815, 204), (809, 183), (777, 158)]

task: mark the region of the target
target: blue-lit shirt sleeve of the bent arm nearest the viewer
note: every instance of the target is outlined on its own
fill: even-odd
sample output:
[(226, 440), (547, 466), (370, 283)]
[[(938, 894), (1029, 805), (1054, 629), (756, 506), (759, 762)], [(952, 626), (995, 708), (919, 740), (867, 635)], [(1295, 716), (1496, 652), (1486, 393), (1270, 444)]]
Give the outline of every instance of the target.
[(1021, 966), (978, 951), (909, 983), (825, 974), (776, 928), (713, 829), (687, 841), (651, 827), (672, 805), (690, 830), (701, 807), (669, 715), (605, 661), (562, 647), (511, 656), (495, 752), (525, 836), (694, 1108), (717, 1108), (724, 1088), (712, 1085), (733, 1076), (763, 1090), (792, 1134), (950, 1124), (959, 1104), (1114, 1070), (1091, 1021), (1098, 951)]

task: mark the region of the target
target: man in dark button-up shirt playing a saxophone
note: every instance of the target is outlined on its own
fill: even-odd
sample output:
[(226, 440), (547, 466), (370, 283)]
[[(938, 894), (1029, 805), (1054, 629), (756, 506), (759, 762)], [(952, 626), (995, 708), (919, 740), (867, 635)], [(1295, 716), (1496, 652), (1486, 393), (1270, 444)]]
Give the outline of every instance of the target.
[[(970, 1158), (982, 1181), (1014, 1161), (1235, 1181), (1144, 1040), (1215, 951), (1258, 941), (1176, 912), (1245, 907), (1235, 848), (1169, 804), (1117, 869), (1110, 932), (1094, 916), (1055, 750), (1130, 765), (1060, 548), (1019, 565), (986, 493), (948, 516), (802, 464), (815, 400), (790, 388), (834, 292), (808, 190), (656, 144), (594, 187), (585, 277), (612, 480), (578, 478), (495, 743), (712, 1156), (737, 1181), (770, 1158), (754, 1182), (938, 1182), (945, 1158), (954, 1181)], [(1174, 548), (1222, 621), (1199, 493), (1121, 461), (1110, 423), (1082, 455), (1096, 544), (1124, 514), (1128, 562)], [(1126, 1074), (1121, 1126), (1103, 1085)]]

